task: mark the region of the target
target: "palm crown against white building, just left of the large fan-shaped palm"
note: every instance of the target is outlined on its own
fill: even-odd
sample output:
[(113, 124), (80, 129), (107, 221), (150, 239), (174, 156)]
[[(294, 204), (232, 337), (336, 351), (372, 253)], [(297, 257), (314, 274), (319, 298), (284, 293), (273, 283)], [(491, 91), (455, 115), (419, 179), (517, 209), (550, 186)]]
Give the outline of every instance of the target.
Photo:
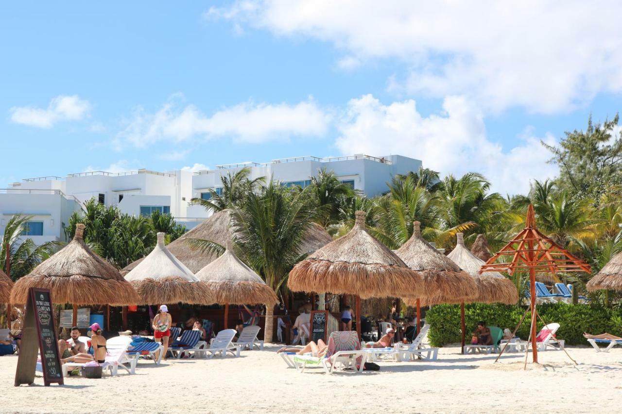
[(216, 191), (215, 188), (208, 190), (210, 193), (209, 200), (195, 197), (190, 202), (203, 206), (213, 213), (226, 208), (234, 208), (239, 205), (246, 193), (256, 191), (259, 186), (266, 182), (266, 177), (250, 180), (248, 177), (250, 177), (251, 172), (250, 167), (244, 167), (233, 174), (228, 172), (227, 175), (220, 177), (222, 186), (218, 189), (219, 191)]

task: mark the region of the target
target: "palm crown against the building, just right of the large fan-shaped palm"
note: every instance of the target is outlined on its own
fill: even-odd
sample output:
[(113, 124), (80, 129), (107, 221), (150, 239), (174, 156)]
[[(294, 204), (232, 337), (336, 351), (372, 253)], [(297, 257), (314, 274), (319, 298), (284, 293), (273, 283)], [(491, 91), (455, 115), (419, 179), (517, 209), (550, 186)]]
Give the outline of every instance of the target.
[(332, 171), (322, 168), (316, 177), (311, 177), (309, 194), (317, 204), (320, 213), (318, 224), (327, 227), (335, 223), (338, 218), (338, 209), (343, 200), (355, 196), (355, 190), (350, 185), (342, 183)]

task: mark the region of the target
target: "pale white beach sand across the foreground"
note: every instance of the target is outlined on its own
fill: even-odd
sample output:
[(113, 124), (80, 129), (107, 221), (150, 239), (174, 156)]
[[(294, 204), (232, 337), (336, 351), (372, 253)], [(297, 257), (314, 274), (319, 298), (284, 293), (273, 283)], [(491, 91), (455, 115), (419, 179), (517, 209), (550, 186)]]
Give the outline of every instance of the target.
[[(136, 375), (101, 380), (70, 377), (64, 387), (13, 386), (17, 357), (0, 357), (1, 412), (617, 412), (622, 406), (622, 348), (596, 353), (569, 348), (539, 354), (462, 356), (441, 349), (437, 362), (380, 362), (380, 372), (299, 374), (275, 354), (244, 351), (242, 357), (141, 361)], [(531, 357), (531, 354), (529, 355)], [(121, 370), (119, 370), (121, 372)], [(162, 392), (169, 389), (169, 395)]]

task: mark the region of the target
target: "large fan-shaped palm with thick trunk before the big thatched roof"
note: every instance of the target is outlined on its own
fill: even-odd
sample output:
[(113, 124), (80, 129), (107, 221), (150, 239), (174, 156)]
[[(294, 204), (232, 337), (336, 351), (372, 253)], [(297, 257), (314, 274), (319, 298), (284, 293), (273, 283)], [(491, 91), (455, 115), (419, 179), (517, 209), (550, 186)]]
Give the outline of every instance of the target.
[[(262, 275), (275, 292), (300, 259), (305, 232), (317, 219), (307, 189), (290, 191), (272, 181), (258, 193), (248, 191), (231, 214), (234, 250)], [(271, 341), (274, 309), (266, 308), (265, 338)]]

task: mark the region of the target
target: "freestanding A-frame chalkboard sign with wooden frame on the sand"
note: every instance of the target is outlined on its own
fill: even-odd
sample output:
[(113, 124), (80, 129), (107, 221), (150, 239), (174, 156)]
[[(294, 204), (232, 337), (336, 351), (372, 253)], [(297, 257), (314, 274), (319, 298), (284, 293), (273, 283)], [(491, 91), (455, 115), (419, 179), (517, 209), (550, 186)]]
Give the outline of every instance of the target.
[(64, 384), (50, 291), (42, 288), (30, 288), (26, 303), (24, 328), (22, 328), (22, 346), (15, 373), (16, 387), (34, 382), (37, 366), (37, 343), (41, 354), (44, 384), (46, 386), (53, 382)]

